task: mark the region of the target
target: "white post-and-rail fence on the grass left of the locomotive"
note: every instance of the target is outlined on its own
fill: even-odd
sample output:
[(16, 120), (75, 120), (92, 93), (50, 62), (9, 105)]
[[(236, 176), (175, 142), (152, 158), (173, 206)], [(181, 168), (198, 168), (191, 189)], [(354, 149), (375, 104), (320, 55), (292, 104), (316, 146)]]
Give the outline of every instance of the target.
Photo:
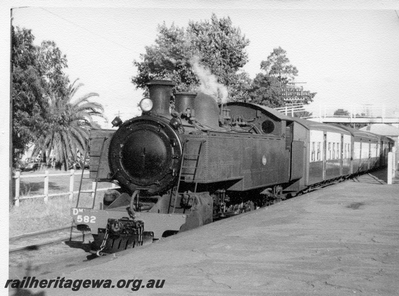
[[(89, 172), (86, 171), (84, 174), (88, 174)], [(14, 196), (14, 205), (19, 206), (19, 200), (21, 199), (28, 199), (28, 198), (44, 198), (44, 202), (48, 201), (48, 197), (53, 196), (61, 196), (61, 195), (69, 195), (69, 200), (73, 199), (73, 194), (78, 193), (79, 190), (74, 189), (74, 176), (81, 175), (82, 172), (75, 172), (74, 169), (71, 169), (68, 173), (57, 173), (57, 174), (50, 174), (48, 170), (45, 170), (44, 174), (37, 174), (37, 175), (21, 175), (19, 171), (16, 171), (12, 176), (15, 179), (15, 196)], [(61, 193), (48, 193), (48, 179), (50, 176), (69, 176), (69, 191), (61, 192)], [(38, 195), (27, 195), (27, 196), (20, 196), (20, 179), (21, 178), (43, 178), (44, 177), (44, 192), (43, 194)], [(112, 183), (111, 187), (106, 188), (97, 188), (97, 191), (104, 191), (108, 189), (118, 188), (114, 183)], [(94, 191), (96, 189), (96, 182), (92, 182), (92, 195), (94, 195)]]

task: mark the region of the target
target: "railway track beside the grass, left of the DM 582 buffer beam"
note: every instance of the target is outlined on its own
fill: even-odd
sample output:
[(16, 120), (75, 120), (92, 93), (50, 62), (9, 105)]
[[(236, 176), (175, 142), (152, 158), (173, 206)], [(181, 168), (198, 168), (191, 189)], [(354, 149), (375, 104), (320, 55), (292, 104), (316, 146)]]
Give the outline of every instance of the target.
[(76, 232), (79, 234), (74, 235), (75, 231), (75, 226), (67, 226), (11, 237), (8, 240), (8, 253), (38, 250), (42, 246), (84, 238), (84, 234), (82, 235), (80, 231)]

